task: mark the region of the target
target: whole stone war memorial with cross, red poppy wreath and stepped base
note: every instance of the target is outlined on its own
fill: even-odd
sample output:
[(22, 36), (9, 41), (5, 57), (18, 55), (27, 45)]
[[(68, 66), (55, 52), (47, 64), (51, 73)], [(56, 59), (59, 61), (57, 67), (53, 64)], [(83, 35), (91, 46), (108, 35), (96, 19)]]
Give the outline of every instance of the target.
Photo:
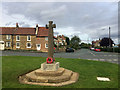
[(79, 74), (71, 70), (60, 67), (59, 62), (55, 62), (53, 28), (56, 24), (49, 21), (46, 25), (48, 33), (48, 58), (41, 64), (41, 68), (19, 76), (22, 84), (42, 85), (42, 86), (63, 86), (77, 82)]

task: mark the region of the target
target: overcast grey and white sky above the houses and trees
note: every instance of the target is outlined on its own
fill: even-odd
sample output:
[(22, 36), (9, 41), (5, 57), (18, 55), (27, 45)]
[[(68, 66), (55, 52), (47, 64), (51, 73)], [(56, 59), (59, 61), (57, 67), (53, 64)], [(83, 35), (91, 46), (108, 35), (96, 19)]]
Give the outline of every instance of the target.
[(1, 27), (44, 27), (52, 20), (54, 35), (77, 35), (82, 42), (108, 37), (118, 43), (118, 2), (2, 2)]

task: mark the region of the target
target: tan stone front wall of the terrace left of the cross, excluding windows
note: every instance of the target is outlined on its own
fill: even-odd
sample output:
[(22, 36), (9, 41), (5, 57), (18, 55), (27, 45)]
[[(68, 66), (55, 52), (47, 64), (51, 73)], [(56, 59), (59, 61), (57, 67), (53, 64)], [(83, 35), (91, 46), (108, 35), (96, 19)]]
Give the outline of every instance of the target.
[[(0, 41), (5, 42), (5, 49), (12, 49), (12, 35), (11, 39), (7, 40), (6, 35), (0, 35)], [(6, 47), (6, 42), (11, 42), (11, 47)], [(20, 48), (16, 48), (16, 43), (20, 43)], [(31, 43), (31, 48), (27, 48), (27, 42)], [(48, 41), (45, 40), (45, 37), (36, 37), (31, 35), (31, 41), (27, 41), (27, 35), (20, 35), (20, 41), (16, 41), (16, 35), (13, 36), (13, 50), (37, 50), (36, 44), (41, 44), (41, 52), (48, 52), (48, 48), (45, 48), (45, 43), (48, 44)]]

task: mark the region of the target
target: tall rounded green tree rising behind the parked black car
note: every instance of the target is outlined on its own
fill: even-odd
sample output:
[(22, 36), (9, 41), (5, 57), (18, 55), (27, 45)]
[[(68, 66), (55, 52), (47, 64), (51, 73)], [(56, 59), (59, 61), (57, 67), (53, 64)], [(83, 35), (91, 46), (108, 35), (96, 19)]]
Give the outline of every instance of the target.
[(80, 42), (81, 42), (80, 38), (78, 36), (74, 36), (71, 38), (70, 47), (77, 50), (80, 47), (79, 46)]

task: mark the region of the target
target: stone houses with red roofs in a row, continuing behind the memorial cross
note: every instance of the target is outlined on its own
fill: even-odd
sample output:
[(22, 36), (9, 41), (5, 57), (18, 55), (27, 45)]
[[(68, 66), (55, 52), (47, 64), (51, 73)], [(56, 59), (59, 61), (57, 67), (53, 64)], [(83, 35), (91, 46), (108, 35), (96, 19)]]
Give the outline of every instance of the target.
[[(66, 43), (64, 35), (54, 36), (54, 43)], [(48, 52), (48, 29), (45, 27), (0, 27), (0, 50), (38, 50)]]

